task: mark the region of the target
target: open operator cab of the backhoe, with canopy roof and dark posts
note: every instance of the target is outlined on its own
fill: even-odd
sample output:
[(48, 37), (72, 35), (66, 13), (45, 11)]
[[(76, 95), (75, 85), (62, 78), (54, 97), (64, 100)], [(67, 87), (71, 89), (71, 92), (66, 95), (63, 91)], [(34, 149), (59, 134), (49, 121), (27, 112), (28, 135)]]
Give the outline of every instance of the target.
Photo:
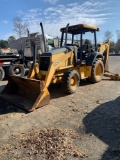
[[(62, 32), (60, 47), (65, 46), (74, 48), (75, 60), (77, 64), (86, 63), (86, 59), (90, 53), (97, 51), (96, 31), (99, 31), (97, 26), (89, 24), (69, 26), (68, 24), (65, 28), (61, 28), (60, 31)], [(87, 36), (87, 39), (88, 37), (91, 37), (91, 33), (93, 34), (94, 47), (85, 42), (84, 39), (86, 34), (89, 35)]]

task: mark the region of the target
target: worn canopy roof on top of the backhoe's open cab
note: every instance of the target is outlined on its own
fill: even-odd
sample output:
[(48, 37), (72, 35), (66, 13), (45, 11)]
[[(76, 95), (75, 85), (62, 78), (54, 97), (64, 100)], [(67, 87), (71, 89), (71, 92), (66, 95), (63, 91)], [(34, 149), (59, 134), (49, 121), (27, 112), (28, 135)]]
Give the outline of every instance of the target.
[[(61, 32), (66, 32), (66, 27), (60, 29)], [(85, 32), (94, 32), (99, 31), (97, 26), (89, 25), (89, 24), (77, 24), (68, 27), (67, 33), (70, 34), (81, 34)]]

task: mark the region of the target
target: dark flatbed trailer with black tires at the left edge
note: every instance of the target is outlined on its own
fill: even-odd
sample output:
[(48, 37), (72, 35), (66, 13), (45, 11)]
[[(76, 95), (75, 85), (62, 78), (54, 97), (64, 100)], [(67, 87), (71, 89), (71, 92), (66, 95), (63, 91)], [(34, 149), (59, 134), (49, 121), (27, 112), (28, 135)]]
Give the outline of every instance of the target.
[(25, 74), (23, 59), (10, 48), (0, 49), (0, 80), (9, 75), (22, 77)]

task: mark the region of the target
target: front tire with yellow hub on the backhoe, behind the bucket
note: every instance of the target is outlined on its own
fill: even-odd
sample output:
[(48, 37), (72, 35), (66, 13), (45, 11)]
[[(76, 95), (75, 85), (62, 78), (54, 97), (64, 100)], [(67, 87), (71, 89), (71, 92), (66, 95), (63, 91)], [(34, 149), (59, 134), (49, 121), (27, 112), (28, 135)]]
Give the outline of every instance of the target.
[(80, 83), (80, 76), (76, 70), (67, 71), (64, 74), (63, 87), (67, 94), (72, 94), (76, 91)]

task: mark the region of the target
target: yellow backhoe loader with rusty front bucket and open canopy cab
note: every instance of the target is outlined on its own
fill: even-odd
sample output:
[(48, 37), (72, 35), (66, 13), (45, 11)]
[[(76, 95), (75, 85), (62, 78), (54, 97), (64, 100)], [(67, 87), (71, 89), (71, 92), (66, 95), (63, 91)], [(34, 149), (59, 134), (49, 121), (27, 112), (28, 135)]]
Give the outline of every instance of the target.
[[(42, 23), (40, 25), (43, 31)], [(36, 60), (34, 54), (34, 62), (27, 78), (11, 76), (0, 97), (33, 111), (50, 102), (48, 87), (51, 83), (62, 82), (66, 93), (72, 94), (81, 79), (88, 79), (92, 83), (102, 80), (104, 72), (108, 71), (110, 42), (97, 45), (96, 32), (99, 28), (88, 24), (68, 24), (60, 31), (60, 47), (43, 52), (39, 60)], [(94, 46), (84, 44), (83, 36), (88, 32), (94, 37)], [(79, 37), (78, 44), (75, 43), (76, 36)]]

